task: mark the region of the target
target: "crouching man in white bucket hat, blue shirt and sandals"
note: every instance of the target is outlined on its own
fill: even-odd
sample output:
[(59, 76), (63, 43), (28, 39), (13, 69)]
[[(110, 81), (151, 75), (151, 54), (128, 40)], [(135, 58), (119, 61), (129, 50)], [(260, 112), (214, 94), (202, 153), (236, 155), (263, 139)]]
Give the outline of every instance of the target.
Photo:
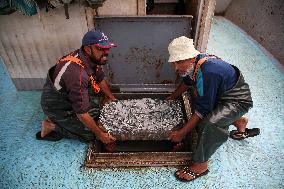
[(175, 99), (190, 85), (195, 87), (195, 112), (184, 127), (173, 131), (169, 139), (181, 142), (192, 129), (198, 133), (193, 163), (176, 171), (181, 181), (192, 181), (207, 174), (208, 160), (231, 137), (242, 140), (259, 134), (259, 129), (246, 128), (248, 119), (243, 115), (253, 106), (249, 86), (239, 69), (220, 58), (202, 54), (194, 48), (193, 40), (185, 36), (174, 39), (168, 47), (171, 62), (183, 82), (167, 98)]

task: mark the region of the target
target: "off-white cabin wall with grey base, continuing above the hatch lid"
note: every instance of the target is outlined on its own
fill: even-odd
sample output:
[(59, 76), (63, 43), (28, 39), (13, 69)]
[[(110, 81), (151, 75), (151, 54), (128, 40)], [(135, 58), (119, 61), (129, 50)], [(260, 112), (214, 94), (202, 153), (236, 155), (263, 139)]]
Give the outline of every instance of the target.
[[(101, 15), (146, 13), (145, 0), (107, 0)], [(69, 5), (69, 19), (63, 6), (40, 14), (19, 12), (0, 15), (0, 57), (18, 89), (41, 89), (47, 70), (63, 55), (79, 48), (81, 39), (93, 28), (95, 11), (78, 0)]]

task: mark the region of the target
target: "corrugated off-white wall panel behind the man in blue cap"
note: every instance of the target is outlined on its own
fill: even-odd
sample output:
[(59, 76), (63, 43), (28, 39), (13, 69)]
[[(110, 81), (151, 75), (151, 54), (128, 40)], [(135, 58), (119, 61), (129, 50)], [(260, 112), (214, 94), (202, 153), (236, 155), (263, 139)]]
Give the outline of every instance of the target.
[(0, 56), (12, 78), (43, 78), (58, 58), (81, 45), (87, 31), (84, 7), (63, 7), (34, 16), (0, 15)]

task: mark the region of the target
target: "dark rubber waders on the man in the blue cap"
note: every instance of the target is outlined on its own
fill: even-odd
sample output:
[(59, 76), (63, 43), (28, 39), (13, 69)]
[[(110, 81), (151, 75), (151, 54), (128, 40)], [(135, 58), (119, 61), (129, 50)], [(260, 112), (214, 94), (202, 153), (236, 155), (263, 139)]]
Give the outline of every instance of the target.
[[(77, 118), (67, 94), (57, 91), (51, 81), (53, 68), (49, 70), (41, 96), (41, 106), (44, 114), (56, 124), (55, 131), (65, 138), (79, 139), (83, 142), (92, 141), (95, 135)], [(100, 107), (90, 96), (91, 107), (88, 113), (95, 119), (99, 119)]]

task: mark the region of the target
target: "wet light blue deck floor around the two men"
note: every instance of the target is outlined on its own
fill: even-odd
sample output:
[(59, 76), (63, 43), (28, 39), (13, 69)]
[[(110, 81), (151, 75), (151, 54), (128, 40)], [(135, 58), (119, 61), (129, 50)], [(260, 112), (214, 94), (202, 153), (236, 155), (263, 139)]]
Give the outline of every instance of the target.
[(40, 92), (16, 91), (0, 63), (0, 189), (284, 188), (283, 66), (222, 17), (213, 19), (208, 52), (243, 72), (254, 100), (249, 127), (261, 135), (229, 139), (211, 158), (209, 174), (191, 183), (176, 181), (173, 168), (86, 170), (86, 144), (37, 141)]

